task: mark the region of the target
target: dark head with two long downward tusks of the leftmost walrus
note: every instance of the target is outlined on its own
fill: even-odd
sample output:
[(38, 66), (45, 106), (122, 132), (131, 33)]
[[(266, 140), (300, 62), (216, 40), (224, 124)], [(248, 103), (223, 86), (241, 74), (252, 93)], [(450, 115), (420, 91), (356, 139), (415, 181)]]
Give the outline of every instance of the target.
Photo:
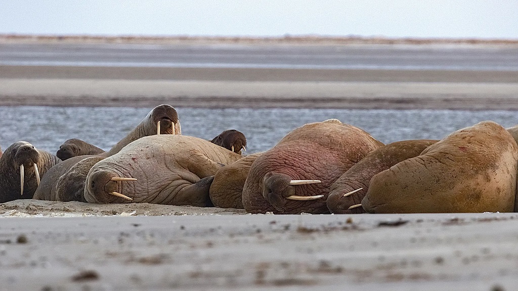
[[(4, 161), (10, 161), (13, 171), (12, 172), (20, 172), (20, 191), (23, 196), (23, 184), (25, 181), (25, 172), (33, 171), (36, 182), (39, 185), (40, 177), (37, 162), (39, 159), (39, 152), (34, 148), (34, 146), (26, 141), (17, 141), (7, 150), (2, 156)], [(32, 170), (31, 170), (32, 168)], [(28, 174), (28, 172), (27, 172)], [(31, 173), (32, 174), (32, 173)]]

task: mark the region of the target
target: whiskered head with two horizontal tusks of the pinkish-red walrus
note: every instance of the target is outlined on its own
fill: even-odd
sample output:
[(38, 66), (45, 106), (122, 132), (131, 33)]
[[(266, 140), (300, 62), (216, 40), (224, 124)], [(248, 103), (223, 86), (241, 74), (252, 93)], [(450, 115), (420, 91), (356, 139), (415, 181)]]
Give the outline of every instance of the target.
[(285, 210), (286, 199), (290, 200), (316, 200), (324, 195), (301, 196), (295, 195), (296, 185), (320, 183), (319, 180), (293, 180), (286, 174), (267, 172), (263, 178), (263, 197), (280, 212)]

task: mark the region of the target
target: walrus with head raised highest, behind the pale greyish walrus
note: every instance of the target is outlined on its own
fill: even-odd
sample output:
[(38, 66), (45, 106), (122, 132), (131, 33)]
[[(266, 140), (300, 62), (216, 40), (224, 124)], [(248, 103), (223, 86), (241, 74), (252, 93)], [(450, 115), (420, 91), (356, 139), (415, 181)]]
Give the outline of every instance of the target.
[[(153, 108), (148, 115), (123, 139), (121, 139), (115, 146), (113, 146), (108, 152), (99, 154), (102, 157), (108, 157), (118, 153), (124, 146), (129, 144), (130, 142), (137, 140), (144, 136), (156, 135), (160, 134), (181, 134), (181, 126), (180, 120), (178, 119), (178, 113), (175, 108), (170, 105), (159, 105)], [(69, 158), (66, 161), (62, 162), (60, 167), (51, 168), (47, 174), (42, 178), (41, 184), (36, 190), (34, 194), (34, 199), (39, 200), (56, 200), (56, 199), (64, 199), (65, 201), (71, 201), (71, 199), (76, 199), (75, 197), (81, 197), (83, 195), (82, 191), (75, 192), (73, 189), (66, 190), (66, 185), (59, 185), (58, 182), (67, 183), (68, 185), (74, 185), (74, 189), (80, 189), (81, 184), (84, 187), (84, 181), (86, 179), (86, 175), (84, 177), (81, 175), (81, 171), (69, 172), (71, 174), (68, 178), (60, 179), (67, 171), (76, 165), (76, 163), (81, 163), (77, 167), (79, 169), (91, 168), (95, 164), (95, 159), (87, 159), (83, 161), (83, 159), (90, 157), (89, 155), (77, 156), (73, 158)], [(88, 171), (87, 171), (88, 173)], [(74, 179), (74, 181), (68, 181), (67, 179)], [(62, 193), (59, 197), (56, 195), (56, 189), (62, 189)], [(74, 192), (73, 192), (74, 191)], [(64, 195), (63, 193), (66, 193)], [(82, 200), (81, 200), (82, 201)]]

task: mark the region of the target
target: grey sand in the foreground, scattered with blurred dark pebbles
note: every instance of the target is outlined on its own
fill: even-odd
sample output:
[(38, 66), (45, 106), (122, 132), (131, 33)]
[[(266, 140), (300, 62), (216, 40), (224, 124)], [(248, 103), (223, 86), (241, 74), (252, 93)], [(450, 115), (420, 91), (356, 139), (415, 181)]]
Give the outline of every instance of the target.
[(516, 213), (220, 215), (232, 212), (242, 214), (8, 202), (0, 206), (0, 286), (512, 290), (518, 275)]

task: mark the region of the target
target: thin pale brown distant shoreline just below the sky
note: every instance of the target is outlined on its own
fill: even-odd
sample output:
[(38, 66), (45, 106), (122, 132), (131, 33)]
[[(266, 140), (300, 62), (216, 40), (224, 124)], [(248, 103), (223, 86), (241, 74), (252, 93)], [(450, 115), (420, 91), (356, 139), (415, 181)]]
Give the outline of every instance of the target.
[(518, 39), (391, 38), (383, 36), (285, 35), (247, 36), (101, 36), (0, 34), (0, 43), (123, 43), (123, 44), (236, 44), (236, 45), (491, 45), (518, 46)]

